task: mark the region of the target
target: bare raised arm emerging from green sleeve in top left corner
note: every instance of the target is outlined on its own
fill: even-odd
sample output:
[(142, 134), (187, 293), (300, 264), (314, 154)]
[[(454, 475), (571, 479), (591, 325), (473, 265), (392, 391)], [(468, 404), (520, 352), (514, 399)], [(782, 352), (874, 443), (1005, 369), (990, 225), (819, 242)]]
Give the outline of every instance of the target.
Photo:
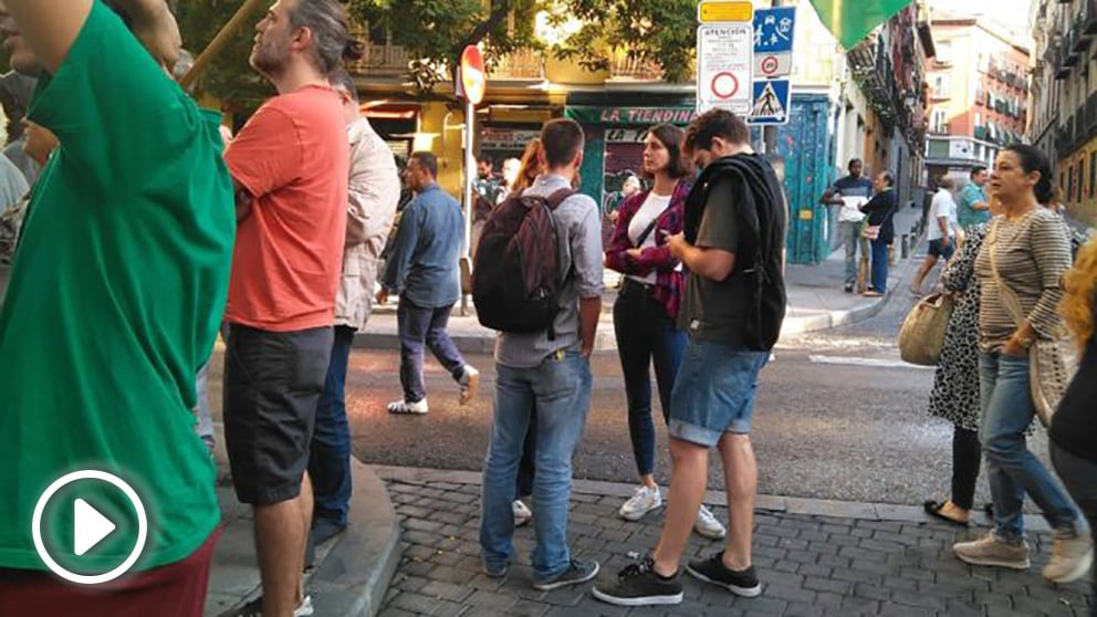
[(69, 56), (92, 12), (92, 0), (3, 0), (3, 4), (39, 63), (51, 74)]

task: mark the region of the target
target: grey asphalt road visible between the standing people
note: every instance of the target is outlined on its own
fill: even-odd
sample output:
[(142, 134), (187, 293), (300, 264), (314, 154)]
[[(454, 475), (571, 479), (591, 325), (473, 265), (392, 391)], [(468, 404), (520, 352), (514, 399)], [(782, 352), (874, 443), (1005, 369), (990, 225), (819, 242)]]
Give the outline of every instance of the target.
[[(926, 412), (933, 373), (902, 365), (895, 344), (912, 304), (913, 297), (897, 292), (871, 320), (780, 343), (762, 373), (753, 423), (760, 492), (906, 504), (947, 496), (952, 432), (951, 425)], [(468, 360), (482, 372), (481, 395), (472, 405), (458, 405), (456, 384), (430, 359), (430, 412), (391, 416), (385, 404), (400, 396), (398, 354), (355, 351), (347, 385), (355, 454), (369, 463), (481, 469), (494, 370), (488, 356)], [(575, 475), (628, 482), (636, 469), (616, 354), (596, 355), (593, 369), (592, 409)], [(665, 484), (666, 431), (655, 414), (657, 475)], [(1043, 431), (1031, 447), (1044, 458)], [(985, 481), (980, 482), (979, 499), (988, 500)], [(723, 485), (719, 464), (710, 466), (709, 485)]]

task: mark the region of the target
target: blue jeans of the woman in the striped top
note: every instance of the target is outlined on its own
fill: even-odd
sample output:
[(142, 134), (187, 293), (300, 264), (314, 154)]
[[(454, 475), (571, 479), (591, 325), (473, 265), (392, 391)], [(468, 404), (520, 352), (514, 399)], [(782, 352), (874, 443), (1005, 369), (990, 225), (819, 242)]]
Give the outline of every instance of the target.
[(1053, 530), (1075, 534), (1079, 513), (1043, 463), (1028, 451), (1025, 430), (1036, 414), (1028, 385), (1028, 358), (980, 352), (979, 386), (986, 478), (999, 537), (1024, 537), (1022, 506), (1032, 498)]

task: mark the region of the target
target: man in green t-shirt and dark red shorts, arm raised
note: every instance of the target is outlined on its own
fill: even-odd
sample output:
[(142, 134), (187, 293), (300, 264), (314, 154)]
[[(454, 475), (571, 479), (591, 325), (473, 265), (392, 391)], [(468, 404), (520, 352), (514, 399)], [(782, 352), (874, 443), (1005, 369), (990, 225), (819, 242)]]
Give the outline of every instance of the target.
[(3, 0), (0, 33), (61, 144), (0, 306), (0, 615), (197, 617), (220, 513), (190, 408), (234, 237), (219, 118), (165, 71), (163, 0)]

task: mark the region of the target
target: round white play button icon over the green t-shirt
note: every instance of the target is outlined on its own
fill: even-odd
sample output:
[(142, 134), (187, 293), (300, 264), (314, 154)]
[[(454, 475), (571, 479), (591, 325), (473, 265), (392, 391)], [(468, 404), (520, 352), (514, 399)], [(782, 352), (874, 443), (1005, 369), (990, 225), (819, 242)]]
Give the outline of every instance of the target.
[(128, 572), (148, 538), (137, 492), (117, 475), (95, 469), (54, 480), (38, 499), (31, 527), (42, 563), (81, 585), (107, 583)]

